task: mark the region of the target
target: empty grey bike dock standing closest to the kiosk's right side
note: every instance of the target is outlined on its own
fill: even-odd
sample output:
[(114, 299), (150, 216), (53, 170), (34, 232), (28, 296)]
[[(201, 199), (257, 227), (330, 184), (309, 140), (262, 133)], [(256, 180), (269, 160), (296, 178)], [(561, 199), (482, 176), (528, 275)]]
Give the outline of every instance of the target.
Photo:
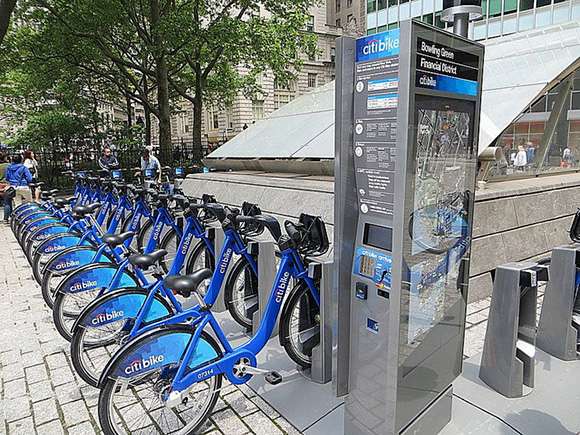
[(538, 281), (547, 280), (548, 268), (536, 263), (496, 268), (479, 377), (506, 397), (534, 387)]

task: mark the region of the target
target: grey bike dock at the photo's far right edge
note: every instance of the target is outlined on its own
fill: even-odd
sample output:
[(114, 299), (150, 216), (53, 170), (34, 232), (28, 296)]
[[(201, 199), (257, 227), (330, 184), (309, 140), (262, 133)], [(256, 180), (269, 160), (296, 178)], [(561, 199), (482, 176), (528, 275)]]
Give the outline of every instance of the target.
[(565, 361), (577, 358), (578, 331), (572, 326), (572, 308), (579, 266), (580, 244), (554, 248), (550, 263), (552, 279), (546, 285), (538, 323), (538, 347)]

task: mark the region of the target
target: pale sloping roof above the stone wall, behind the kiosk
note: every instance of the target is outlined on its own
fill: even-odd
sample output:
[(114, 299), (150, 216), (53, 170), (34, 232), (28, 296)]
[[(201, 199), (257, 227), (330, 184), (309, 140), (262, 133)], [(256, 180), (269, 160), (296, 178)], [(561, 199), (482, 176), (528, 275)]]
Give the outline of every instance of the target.
[[(580, 22), (484, 42), (479, 152), (532, 102), (580, 67)], [(209, 158), (334, 158), (334, 82), (300, 96), (235, 136)]]

